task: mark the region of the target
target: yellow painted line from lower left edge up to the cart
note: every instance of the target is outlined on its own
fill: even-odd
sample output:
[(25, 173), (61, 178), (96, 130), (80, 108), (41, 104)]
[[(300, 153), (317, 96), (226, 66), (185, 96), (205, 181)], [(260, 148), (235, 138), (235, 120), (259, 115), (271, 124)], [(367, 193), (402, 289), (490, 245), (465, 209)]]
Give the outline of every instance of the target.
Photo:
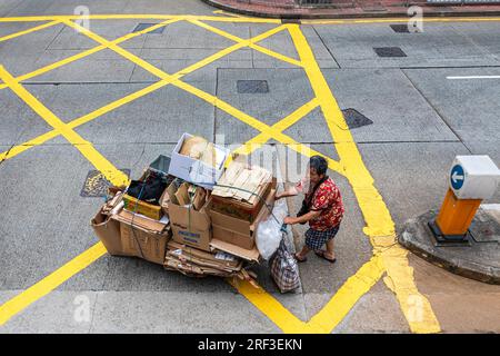
[(104, 246), (101, 243), (98, 243), (59, 269), (51, 273), (46, 278), (2, 304), (0, 306), (0, 326), (6, 324), (12, 316), (22, 312), (32, 303), (48, 295), (80, 270), (87, 268), (104, 254)]

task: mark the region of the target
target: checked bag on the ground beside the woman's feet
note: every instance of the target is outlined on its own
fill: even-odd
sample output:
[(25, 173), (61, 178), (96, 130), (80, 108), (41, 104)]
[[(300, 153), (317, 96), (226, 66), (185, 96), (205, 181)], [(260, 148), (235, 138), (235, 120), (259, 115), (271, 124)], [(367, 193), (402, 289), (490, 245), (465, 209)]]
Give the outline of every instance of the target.
[(291, 291), (300, 286), (299, 266), (283, 238), (271, 260), (271, 276), (281, 293)]

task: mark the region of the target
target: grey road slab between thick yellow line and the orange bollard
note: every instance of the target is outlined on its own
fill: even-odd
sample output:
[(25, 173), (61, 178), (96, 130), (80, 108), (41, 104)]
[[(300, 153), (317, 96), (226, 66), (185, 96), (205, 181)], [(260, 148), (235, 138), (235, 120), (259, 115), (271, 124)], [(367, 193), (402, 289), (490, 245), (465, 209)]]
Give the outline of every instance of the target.
[(460, 142), (360, 144), (358, 148), (397, 227), (439, 209), (454, 156), (468, 154)]

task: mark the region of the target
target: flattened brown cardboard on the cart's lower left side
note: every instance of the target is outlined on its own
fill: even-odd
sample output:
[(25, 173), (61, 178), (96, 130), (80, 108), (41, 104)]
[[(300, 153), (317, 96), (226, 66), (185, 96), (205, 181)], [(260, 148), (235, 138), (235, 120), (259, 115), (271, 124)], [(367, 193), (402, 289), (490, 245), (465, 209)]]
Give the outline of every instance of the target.
[(171, 231), (168, 225), (121, 209), (111, 219), (120, 222), (123, 253), (163, 265)]

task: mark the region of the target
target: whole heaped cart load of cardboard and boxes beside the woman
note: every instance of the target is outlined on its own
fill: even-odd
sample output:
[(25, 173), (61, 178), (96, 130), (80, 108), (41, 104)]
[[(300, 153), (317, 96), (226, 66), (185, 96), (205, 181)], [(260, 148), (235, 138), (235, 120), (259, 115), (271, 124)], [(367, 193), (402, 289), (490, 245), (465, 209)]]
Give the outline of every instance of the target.
[[(246, 267), (260, 259), (256, 233), (272, 210), (276, 179), (239, 162), (224, 172), (228, 157), (224, 148), (182, 135), (172, 158), (160, 156), (149, 168), (170, 177), (158, 206), (110, 189), (111, 198), (91, 220), (96, 235), (110, 255), (143, 258), (193, 277), (253, 283)], [(168, 162), (168, 172), (158, 162)]]

